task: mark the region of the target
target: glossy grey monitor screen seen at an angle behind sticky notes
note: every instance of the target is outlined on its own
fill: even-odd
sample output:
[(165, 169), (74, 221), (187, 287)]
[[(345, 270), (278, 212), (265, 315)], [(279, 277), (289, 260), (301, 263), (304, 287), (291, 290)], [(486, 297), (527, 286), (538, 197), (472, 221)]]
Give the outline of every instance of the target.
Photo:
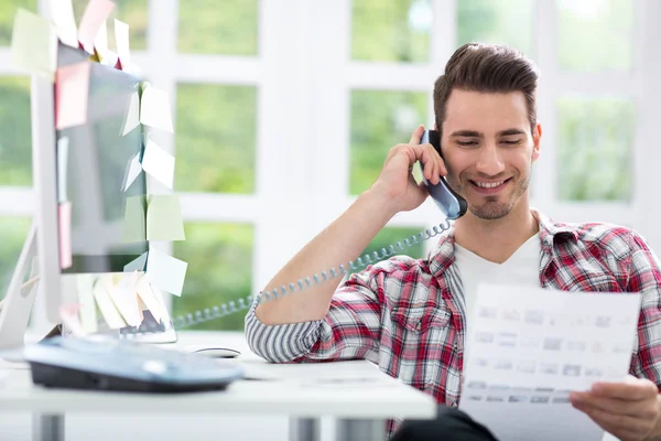
[(58, 67), (80, 62), (90, 64), (87, 121), (56, 130), (58, 202), (67, 200), (72, 213), (72, 266), (62, 272), (121, 272), (149, 248), (147, 240), (127, 243), (122, 237), (124, 228), (140, 227), (127, 225), (127, 200), (147, 194), (144, 173), (124, 189), (131, 160), (141, 154), (143, 142), (140, 125), (124, 135), (140, 79), (59, 44)]

